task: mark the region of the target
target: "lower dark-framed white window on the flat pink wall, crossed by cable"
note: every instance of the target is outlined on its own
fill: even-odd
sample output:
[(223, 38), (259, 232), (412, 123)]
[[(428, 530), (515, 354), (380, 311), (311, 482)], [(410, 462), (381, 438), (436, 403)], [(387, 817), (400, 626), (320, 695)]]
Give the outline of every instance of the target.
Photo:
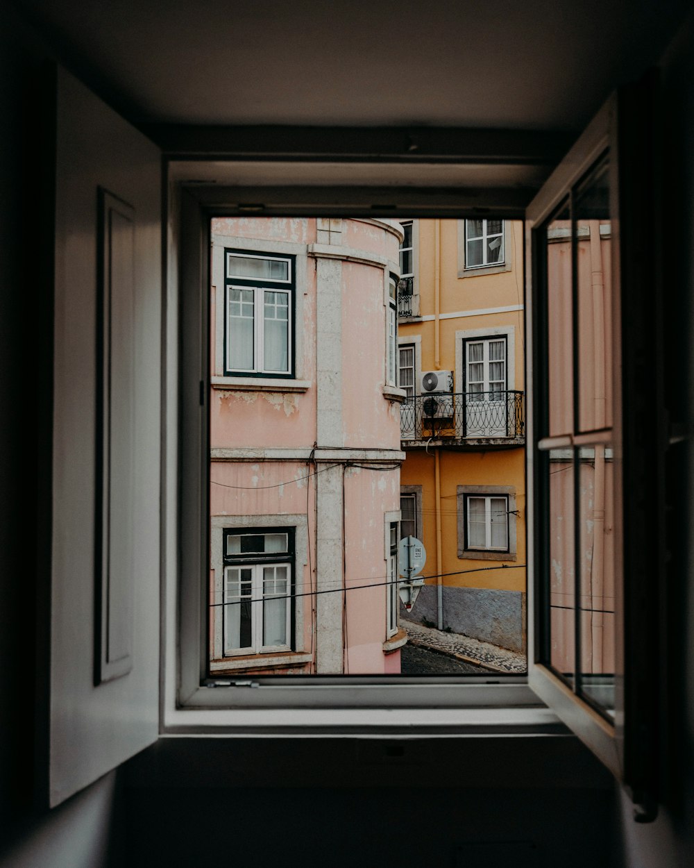
[(224, 532), (224, 657), (291, 650), (293, 533)]

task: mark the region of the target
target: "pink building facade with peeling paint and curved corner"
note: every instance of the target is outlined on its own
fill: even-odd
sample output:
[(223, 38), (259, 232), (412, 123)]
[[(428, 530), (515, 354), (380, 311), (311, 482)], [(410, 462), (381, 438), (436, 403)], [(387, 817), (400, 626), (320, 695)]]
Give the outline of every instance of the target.
[(402, 237), (212, 221), (212, 674), (400, 671)]

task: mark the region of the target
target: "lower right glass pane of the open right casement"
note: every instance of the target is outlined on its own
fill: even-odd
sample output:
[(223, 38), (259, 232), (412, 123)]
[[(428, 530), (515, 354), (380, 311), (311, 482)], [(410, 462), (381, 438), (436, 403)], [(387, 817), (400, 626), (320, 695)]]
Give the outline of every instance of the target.
[(612, 450), (579, 451), (581, 689), (614, 709), (614, 491)]

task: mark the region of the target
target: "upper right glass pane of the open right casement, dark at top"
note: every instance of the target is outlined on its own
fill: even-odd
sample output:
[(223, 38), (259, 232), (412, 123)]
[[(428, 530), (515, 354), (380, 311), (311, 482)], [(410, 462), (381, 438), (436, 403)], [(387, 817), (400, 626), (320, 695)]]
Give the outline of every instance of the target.
[(603, 164), (576, 197), (579, 306), (579, 430), (612, 425), (610, 188)]

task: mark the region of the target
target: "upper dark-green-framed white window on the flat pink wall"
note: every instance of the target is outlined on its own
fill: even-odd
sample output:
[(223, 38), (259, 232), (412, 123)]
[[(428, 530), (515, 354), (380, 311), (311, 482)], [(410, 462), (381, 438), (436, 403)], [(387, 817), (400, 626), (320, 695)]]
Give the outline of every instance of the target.
[[(290, 377), (294, 328), (292, 258), (229, 250), (225, 254), (225, 373)], [(279, 283), (286, 286), (278, 286)]]

